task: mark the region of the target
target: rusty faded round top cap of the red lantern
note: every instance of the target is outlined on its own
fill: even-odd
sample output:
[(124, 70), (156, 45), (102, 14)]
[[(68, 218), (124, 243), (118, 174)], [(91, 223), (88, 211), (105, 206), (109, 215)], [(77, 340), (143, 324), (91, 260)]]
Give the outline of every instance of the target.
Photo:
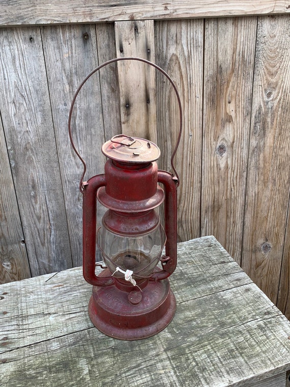
[(103, 154), (120, 163), (152, 163), (160, 156), (160, 149), (153, 142), (126, 135), (117, 135), (102, 146)]

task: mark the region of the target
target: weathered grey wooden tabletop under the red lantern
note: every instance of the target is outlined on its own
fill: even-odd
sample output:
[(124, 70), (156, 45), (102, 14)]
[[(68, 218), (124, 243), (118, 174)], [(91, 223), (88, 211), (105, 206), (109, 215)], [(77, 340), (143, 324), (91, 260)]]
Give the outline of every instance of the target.
[(0, 286), (0, 385), (285, 386), (290, 322), (214, 237), (179, 244), (171, 324), (138, 341), (88, 316), (81, 268)]

